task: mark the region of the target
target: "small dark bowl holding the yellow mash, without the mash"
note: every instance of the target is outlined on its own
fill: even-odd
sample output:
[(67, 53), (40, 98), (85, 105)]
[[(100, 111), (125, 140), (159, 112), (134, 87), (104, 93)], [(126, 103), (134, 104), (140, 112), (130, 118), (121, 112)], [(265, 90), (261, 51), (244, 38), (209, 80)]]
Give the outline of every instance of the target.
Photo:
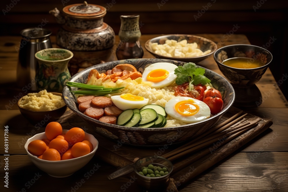
[[(61, 93), (56, 93), (56, 92), (49, 92), (52, 93), (54, 95), (58, 95), (62, 97)], [(18, 108), (21, 112), (21, 114), (29, 120), (30, 123), (32, 123), (33, 125), (37, 125), (37, 126), (46, 126), (48, 123), (52, 122), (52, 121), (56, 121), (58, 120), (66, 111), (67, 106), (64, 105), (58, 109), (52, 110), (52, 111), (29, 111), (27, 109), (24, 109), (22, 107), (20, 107), (20, 102), (23, 99), (23, 97), (21, 97), (18, 100)]]

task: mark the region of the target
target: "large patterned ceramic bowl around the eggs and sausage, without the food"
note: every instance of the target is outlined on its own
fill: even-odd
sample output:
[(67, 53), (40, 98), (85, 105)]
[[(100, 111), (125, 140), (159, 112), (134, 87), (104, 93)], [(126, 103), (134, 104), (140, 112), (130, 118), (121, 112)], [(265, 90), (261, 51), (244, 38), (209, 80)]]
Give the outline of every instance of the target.
[[(113, 62), (107, 62), (104, 64), (98, 64), (89, 67), (87, 69), (84, 69), (83, 71), (71, 77), (69, 81), (86, 83), (88, 75), (91, 70), (96, 69), (97, 71), (99, 71), (99, 73), (103, 73), (109, 69), (112, 69), (118, 64), (125, 64), (125, 63), (133, 65), (140, 73), (143, 73), (143, 70), (147, 66), (158, 62), (169, 62), (177, 66), (185, 64), (185, 62), (166, 60), (166, 59), (141, 58), (141, 59), (118, 60)], [(206, 69), (204, 75), (211, 80), (211, 84), (213, 85), (213, 87), (221, 92), (222, 99), (224, 102), (222, 111), (217, 113), (216, 115), (213, 116), (211, 115), (211, 117), (203, 121), (174, 127), (139, 128), (139, 127), (125, 127), (114, 125), (111, 123), (104, 123), (99, 120), (88, 117), (87, 115), (79, 111), (77, 99), (75, 98), (75, 95), (71, 92), (74, 90), (78, 90), (78, 88), (75, 87), (70, 88), (68, 86), (65, 86), (62, 95), (63, 100), (69, 109), (71, 109), (74, 113), (79, 115), (79, 117), (81, 117), (94, 130), (96, 130), (96, 132), (102, 134), (103, 136), (106, 136), (107, 138), (110, 138), (112, 140), (115, 140), (116, 142), (120, 142), (123, 144), (126, 143), (138, 146), (168, 145), (192, 139), (206, 132), (232, 106), (235, 99), (234, 89), (232, 85), (224, 77), (209, 69)]]

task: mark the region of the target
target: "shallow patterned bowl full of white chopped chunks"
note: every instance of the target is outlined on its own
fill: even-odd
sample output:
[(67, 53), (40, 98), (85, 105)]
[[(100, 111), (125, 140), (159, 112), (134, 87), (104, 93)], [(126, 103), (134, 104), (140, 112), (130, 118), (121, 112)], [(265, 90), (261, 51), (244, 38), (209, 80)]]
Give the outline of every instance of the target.
[(163, 35), (149, 39), (145, 48), (156, 58), (199, 62), (217, 50), (215, 42), (196, 35)]

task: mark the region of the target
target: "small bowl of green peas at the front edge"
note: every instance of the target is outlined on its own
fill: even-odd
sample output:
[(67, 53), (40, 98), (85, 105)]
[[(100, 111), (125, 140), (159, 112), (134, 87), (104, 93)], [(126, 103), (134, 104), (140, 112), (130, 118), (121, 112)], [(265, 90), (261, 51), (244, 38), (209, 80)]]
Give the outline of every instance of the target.
[(145, 189), (166, 189), (173, 164), (163, 157), (153, 155), (142, 157), (134, 164), (137, 183)]

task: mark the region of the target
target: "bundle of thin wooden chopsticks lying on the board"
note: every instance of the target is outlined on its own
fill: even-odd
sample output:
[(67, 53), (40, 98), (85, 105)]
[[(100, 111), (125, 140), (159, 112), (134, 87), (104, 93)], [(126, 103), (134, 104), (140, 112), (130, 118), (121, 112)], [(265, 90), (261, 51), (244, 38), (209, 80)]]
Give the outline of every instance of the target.
[[(169, 153), (166, 153), (165, 155), (162, 155), (162, 157), (174, 161), (178, 158), (181, 158), (185, 155), (188, 155), (190, 153), (196, 152), (200, 149), (203, 149), (204, 147), (208, 147), (210, 145), (213, 145), (213, 143), (217, 142), (217, 147), (221, 147), (227, 142), (233, 140), (234, 138), (240, 136), (247, 130), (251, 129), (252, 127), (256, 126), (259, 122), (259, 120), (254, 120), (251, 122), (245, 122), (247, 121), (247, 118), (244, 118), (247, 113), (244, 115), (241, 115), (243, 111), (238, 112), (237, 114), (233, 115), (226, 121), (220, 123), (219, 125), (211, 128), (208, 132), (204, 133), (203, 135), (199, 136), (198, 138), (195, 138), (194, 140), (186, 143), (185, 145), (174, 149), (173, 151), (170, 151)], [(237, 118), (236, 118), (237, 117)], [(235, 119), (236, 118), (236, 119)], [(220, 142), (220, 145), (218, 146), (218, 142)], [(211, 149), (206, 149), (193, 159), (189, 160), (190, 163), (204, 157), (208, 153), (211, 153)], [(186, 162), (187, 164), (189, 162)], [(177, 167), (177, 170), (180, 168)]]

